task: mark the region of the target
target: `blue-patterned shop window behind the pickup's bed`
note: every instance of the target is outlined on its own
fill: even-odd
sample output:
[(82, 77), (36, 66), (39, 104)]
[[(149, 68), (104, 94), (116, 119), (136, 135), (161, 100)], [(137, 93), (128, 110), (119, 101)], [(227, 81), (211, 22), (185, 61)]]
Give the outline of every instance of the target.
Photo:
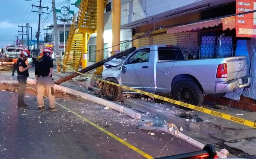
[(202, 36), (200, 59), (232, 57), (232, 36)]

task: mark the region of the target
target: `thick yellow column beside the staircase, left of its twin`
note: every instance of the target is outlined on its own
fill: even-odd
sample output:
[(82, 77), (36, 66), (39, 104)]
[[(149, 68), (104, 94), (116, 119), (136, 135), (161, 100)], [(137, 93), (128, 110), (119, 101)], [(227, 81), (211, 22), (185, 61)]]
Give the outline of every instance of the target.
[[(96, 46), (96, 62), (103, 60), (103, 45), (104, 45), (104, 0), (97, 0), (97, 46)], [(103, 66), (98, 67), (94, 75), (101, 75)]]

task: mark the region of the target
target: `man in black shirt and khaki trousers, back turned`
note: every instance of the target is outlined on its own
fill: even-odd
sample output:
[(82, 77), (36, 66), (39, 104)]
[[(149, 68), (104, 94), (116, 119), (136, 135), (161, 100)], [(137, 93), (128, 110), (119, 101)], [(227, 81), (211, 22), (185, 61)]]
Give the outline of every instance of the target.
[(51, 48), (44, 48), (43, 56), (37, 60), (35, 68), (35, 76), (37, 81), (37, 104), (39, 111), (44, 108), (44, 90), (46, 89), (49, 98), (49, 110), (57, 111), (55, 107), (54, 97), (54, 80), (52, 78), (53, 60), (50, 57), (53, 53)]

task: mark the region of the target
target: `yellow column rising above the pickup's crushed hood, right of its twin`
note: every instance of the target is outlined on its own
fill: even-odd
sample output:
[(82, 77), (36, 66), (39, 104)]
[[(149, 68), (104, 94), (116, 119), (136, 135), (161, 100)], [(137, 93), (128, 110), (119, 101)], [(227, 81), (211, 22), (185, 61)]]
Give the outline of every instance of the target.
[[(112, 56), (120, 51), (121, 0), (113, 0), (112, 10)], [(117, 46), (115, 46), (117, 45)]]

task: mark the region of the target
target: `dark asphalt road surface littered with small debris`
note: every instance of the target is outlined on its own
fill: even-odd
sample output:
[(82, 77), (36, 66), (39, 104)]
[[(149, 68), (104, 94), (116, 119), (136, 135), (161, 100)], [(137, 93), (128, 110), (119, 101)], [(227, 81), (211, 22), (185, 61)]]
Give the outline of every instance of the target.
[[(6, 85), (1, 84), (0, 90)], [(144, 158), (139, 153), (81, 118), (58, 106), (59, 111), (39, 112), (36, 93), (27, 89), (28, 110), (17, 109), (17, 92), (0, 91), (0, 158)], [(69, 95), (56, 93), (56, 101), (88, 118), (145, 153), (158, 157), (173, 138), (165, 132), (136, 130), (149, 116), (137, 121), (114, 110)], [(46, 107), (48, 106), (45, 99)], [(162, 120), (158, 120), (159, 126)], [(136, 134), (127, 134), (136, 132)], [(179, 142), (181, 141), (181, 143)], [(199, 150), (181, 139), (173, 138), (160, 157)]]

